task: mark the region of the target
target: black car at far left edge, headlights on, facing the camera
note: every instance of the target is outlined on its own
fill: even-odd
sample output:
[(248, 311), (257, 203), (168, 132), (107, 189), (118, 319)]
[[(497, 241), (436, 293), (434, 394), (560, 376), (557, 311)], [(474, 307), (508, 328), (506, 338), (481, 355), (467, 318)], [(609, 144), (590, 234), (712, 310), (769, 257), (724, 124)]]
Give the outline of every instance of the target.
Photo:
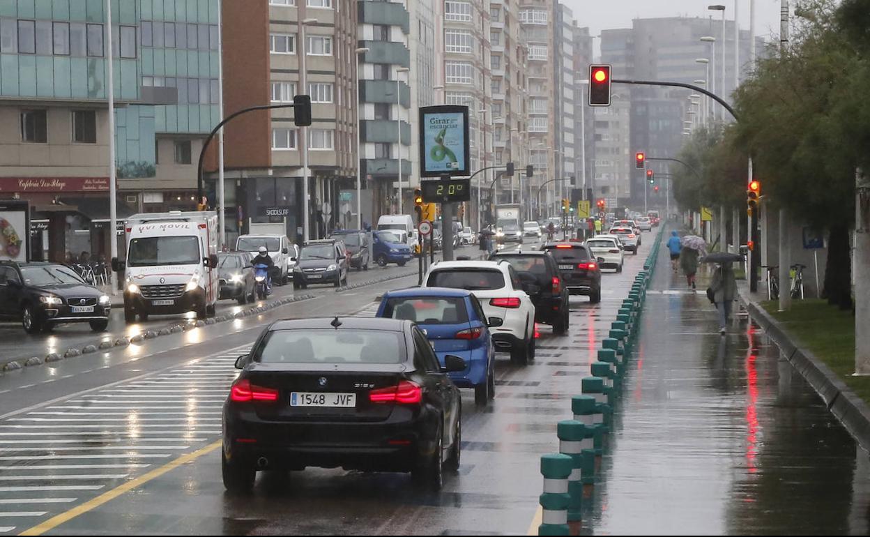
[(0, 318), (20, 320), (28, 333), (64, 323), (103, 332), (110, 308), (108, 295), (66, 265), (0, 261)]

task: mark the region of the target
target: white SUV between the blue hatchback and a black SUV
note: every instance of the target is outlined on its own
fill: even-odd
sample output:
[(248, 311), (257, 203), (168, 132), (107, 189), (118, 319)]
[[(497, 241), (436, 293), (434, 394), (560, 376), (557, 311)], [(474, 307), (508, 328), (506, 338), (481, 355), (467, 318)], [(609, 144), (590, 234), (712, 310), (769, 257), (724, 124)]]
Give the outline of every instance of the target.
[[(474, 293), (491, 321), (496, 351), (510, 352), (511, 361), (525, 365), (535, 357), (535, 306), (523, 291), (519, 274), (507, 260), (442, 261), (430, 267), (424, 287), (467, 289)], [(498, 319), (501, 324), (492, 324)]]

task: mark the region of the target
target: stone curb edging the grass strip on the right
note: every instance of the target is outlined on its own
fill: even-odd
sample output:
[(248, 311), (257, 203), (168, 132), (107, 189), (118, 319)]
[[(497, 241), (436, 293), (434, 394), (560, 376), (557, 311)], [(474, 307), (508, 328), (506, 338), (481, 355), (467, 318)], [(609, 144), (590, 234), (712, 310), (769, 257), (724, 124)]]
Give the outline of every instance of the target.
[(755, 322), (780, 347), (783, 355), (813, 386), (816, 393), (825, 401), (827, 409), (846, 430), (864, 448), (870, 451), (870, 406), (860, 399), (845, 382), (834, 373), (825, 362), (813, 352), (795, 345), (788, 332), (773, 315), (766, 312), (758, 303), (746, 299), (739, 290), (740, 302), (746, 305), (746, 310)]

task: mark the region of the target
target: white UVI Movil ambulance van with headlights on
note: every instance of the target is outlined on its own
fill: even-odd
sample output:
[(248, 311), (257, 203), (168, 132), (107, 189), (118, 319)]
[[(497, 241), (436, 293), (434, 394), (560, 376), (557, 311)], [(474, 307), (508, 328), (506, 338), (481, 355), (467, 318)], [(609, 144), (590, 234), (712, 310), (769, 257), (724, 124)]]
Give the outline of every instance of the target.
[(113, 258), (124, 275), (124, 320), (149, 315), (215, 314), (218, 303), (218, 214), (169, 211), (124, 221), (127, 258)]

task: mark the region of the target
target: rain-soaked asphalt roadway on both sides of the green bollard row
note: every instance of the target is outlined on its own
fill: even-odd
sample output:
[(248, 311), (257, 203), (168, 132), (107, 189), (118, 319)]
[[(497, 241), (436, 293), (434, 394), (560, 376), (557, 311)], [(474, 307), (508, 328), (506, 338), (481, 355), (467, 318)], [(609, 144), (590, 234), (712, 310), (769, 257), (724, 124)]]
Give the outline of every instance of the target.
[[(499, 355), (491, 406), (463, 391), (462, 467), (442, 493), (308, 469), (263, 474), (245, 498), (220, 477), (220, 406), (260, 325), (371, 314), (405, 278), (0, 377), (0, 534), (525, 534), (539, 455), (558, 449), (556, 423), (650, 242), (605, 275), (600, 305), (572, 299), (568, 335), (542, 327), (531, 366)], [(582, 531), (867, 534), (867, 455), (775, 347), (739, 324), (720, 338), (706, 299), (672, 278), (660, 262)]]

